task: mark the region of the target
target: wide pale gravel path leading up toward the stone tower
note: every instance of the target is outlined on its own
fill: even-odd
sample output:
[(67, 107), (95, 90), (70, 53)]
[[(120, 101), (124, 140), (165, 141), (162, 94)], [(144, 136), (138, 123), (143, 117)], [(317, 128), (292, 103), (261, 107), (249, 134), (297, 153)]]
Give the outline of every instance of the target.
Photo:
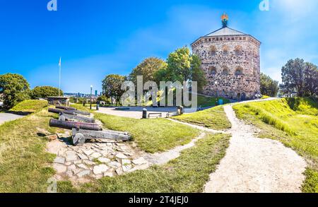
[(278, 141), (257, 138), (259, 129), (237, 119), (232, 105), (225, 105), (224, 109), (232, 124), (232, 138), (218, 170), (210, 175), (205, 192), (300, 192), (305, 160)]

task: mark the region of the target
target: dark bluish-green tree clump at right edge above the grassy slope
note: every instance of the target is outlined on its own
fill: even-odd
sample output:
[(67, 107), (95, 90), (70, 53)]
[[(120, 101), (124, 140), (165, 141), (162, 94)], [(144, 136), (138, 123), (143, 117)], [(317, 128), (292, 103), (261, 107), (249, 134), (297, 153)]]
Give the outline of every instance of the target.
[(317, 95), (317, 66), (303, 59), (290, 59), (282, 68), (281, 90), (284, 94), (297, 93), (304, 97)]

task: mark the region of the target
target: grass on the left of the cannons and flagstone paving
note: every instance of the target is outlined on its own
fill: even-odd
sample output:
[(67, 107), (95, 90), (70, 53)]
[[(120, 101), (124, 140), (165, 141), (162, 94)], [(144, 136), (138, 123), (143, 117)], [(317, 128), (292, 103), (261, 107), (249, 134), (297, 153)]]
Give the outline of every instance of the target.
[(47, 140), (37, 136), (36, 128), (55, 133), (49, 128), (51, 115), (44, 109), (0, 126), (0, 192), (46, 191), (47, 179), (55, 173), (47, 167), (54, 155), (45, 153)]

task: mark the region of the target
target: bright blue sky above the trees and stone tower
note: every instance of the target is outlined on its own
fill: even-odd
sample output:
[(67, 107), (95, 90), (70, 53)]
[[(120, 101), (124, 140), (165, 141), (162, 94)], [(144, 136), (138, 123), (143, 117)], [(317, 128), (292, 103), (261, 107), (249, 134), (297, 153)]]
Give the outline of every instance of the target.
[(269, 0), (57, 0), (58, 11), (47, 11), (49, 0), (0, 0), (0, 74), (20, 73), (31, 87), (59, 85), (62, 57), (64, 92), (101, 90), (107, 74), (128, 74), (146, 57), (190, 45), (221, 27), (257, 37), (261, 71), (281, 81), (288, 59), (318, 64), (318, 1)]

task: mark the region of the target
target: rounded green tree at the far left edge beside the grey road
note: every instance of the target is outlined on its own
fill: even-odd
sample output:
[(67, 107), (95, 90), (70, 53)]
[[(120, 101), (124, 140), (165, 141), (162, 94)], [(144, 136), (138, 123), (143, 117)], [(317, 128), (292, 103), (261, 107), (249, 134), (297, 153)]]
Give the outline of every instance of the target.
[(8, 110), (30, 98), (30, 85), (23, 76), (6, 73), (0, 76), (0, 93), (4, 100), (3, 107)]

